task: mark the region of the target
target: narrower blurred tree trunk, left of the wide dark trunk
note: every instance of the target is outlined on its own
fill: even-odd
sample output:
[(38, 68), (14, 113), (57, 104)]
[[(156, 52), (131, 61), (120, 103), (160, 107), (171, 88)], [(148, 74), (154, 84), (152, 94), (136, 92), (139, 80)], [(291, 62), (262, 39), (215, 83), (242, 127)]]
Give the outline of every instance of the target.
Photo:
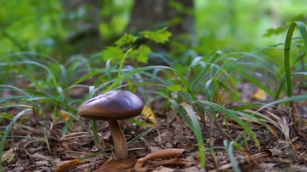
[[(103, 47), (100, 37), (101, 0), (66, 0), (63, 1), (69, 38), (69, 52), (89, 54)], [(71, 53), (69, 53), (71, 54)]]

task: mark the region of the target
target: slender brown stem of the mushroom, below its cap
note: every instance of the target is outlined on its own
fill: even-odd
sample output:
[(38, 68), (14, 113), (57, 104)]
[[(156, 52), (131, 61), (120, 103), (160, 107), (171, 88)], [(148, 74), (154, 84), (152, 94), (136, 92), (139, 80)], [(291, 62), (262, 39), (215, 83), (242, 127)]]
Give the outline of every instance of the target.
[(128, 146), (125, 134), (123, 133), (117, 120), (108, 120), (109, 128), (114, 143), (114, 159), (124, 159), (128, 157)]

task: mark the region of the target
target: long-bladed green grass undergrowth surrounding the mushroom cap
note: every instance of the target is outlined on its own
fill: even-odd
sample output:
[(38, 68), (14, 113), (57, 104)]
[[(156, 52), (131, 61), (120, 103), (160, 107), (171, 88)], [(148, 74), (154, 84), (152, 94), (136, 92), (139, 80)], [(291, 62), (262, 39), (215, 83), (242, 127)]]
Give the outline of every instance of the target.
[[(299, 28), (301, 34), (299, 38), (293, 38), (295, 26)], [(295, 43), (292, 43), (292, 40)], [(293, 47), (297, 47), (299, 53), (297, 57), (290, 58), (290, 48)], [(291, 108), (296, 101), (307, 100), (307, 95), (293, 94), (294, 90), (299, 89), (298, 87), (307, 85), (307, 72), (304, 71), (306, 63), (303, 60), (307, 52), (307, 33), (303, 23), (296, 22), (290, 25), (284, 44), (248, 48), (250, 49), (254, 51), (246, 52), (247, 49), (244, 49), (229, 54), (217, 52), (208, 57), (192, 56), (186, 59), (189, 64), (184, 64), (185, 70), (181, 68), (182, 66), (176, 68), (158, 65), (135, 68), (132, 65), (125, 65), (125, 57), (131, 49), (126, 52), (120, 63), (111, 58), (105, 65), (100, 55), (88, 58), (73, 56), (64, 63), (47, 55), (32, 52), (3, 57), (0, 63), (0, 91), (8, 96), (0, 98), (2, 125), (0, 159), (7, 139), (22, 137), (10, 135), (10, 132), (13, 124), (18, 125), (17, 121), (22, 120), (25, 115), (31, 115), (37, 125), (42, 125), (45, 130), (50, 128), (51, 123), (63, 121), (65, 123), (62, 129), (63, 135), (74, 131), (71, 123), (76, 121), (85, 131), (92, 133), (93, 141), (100, 147), (95, 121), (91, 122), (91, 128), (87, 127), (83, 119), (78, 117), (77, 107), (98, 94), (116, 89), (136, 92), (138, 88), (138, 94), (148, 101), (145, 104), (148, 105), (150, 101), (162, 96), (168, 99), (169, 106), (176, 109), (178, 115), (196, 136), (201, 168), (206, 166), (206, 151), (210, 151), (214, 156), (212, 153), (214, 145), (204, 146), (201, 129), (212, 122), (221, 130), (221, 121), (225, 122), (228, 129), (229, 119), (240, 125), (243, 130), (242, 142), (231, 140), (231, 133), (221, 130), (227, 138), (224, 141), (224, 148), (228, 152), (234, 170), (238, 171), (239, 167), (233, 154), (234, 147), (245, 154), (251, 154), (248, 147), (253, 141), (258, 149), (261, 149), (257, 135), (249, 125), (251, 122), (263, 125), (274, 136), (277, 135), (276, 129), (280, 130), (286, 139), (291, 140), (281, 123), (262, 114), (261, 110), (281, 103), (289, 103), (288, 107)], [(284, 51), (283, 63), (278, 60), (272, 63), (269, 60), (264, 52), (272, 50)], [(293, 85), (293, 80), (300, 84)], [(274, 101), (267, 104), (242, 102), (237, 84), (243, 81), (254, 84)], [(70, 96), (70, 91), (76, 88), (85, 88), (88, 93), (82, 98)], [(198, 99), (199, 95), (203, 95), (204, 99)], [(226, 108), (231, 102), (240, 102), (242, 105)], [(12, 108), (24, 110), (15, 115), (10, 113)], [(258, 110), (255, 111), (255, 108)], [(296, 117), (295, 113), (289, 112)], [(39, 124), (40, 120), (43, 123)], [(136, 119), (131, 119), (131, 122), (150, 126)], [(148, 132), (150, 127), (135, 139)], [(42, 135), (43, 138), (28, 138), (43, 139), (48, 146), (47, 132)], [(103, 151), (100, 150), (98, 153)]]

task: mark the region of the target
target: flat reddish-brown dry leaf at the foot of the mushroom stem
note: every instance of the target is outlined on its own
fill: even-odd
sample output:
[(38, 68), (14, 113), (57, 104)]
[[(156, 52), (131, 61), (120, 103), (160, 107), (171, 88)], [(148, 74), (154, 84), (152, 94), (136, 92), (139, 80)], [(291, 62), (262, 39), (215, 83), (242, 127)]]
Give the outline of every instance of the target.
[(125, 159), (110, 160), (96, 169), (95, 172), (121, 172), (130, 171), (135, 163), (135, 157), (131, 156)]

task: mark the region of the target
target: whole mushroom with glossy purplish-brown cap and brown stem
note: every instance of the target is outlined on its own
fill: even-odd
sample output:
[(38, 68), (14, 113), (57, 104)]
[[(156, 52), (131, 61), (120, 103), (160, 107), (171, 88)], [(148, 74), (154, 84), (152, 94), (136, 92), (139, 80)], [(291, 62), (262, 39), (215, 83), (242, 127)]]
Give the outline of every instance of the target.
[(107, 120), (115, 148), (114, 159), (124, 159), (128, 157), (127, 141), (117, 120), (138, 116), (143, 107), (143, 102), (133, 93), (116, 90), (84, 102), (78, 114), (92, 120)]

